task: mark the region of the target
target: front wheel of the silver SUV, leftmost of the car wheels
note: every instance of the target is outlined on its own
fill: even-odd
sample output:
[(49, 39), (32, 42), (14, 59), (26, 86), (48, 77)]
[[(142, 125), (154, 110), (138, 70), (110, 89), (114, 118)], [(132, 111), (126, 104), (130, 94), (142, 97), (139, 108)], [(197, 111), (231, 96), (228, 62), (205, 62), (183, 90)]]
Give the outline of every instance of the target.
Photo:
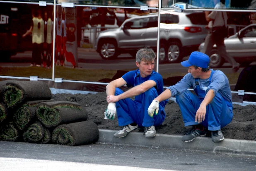
[(116, 42), (109, 41), (109, 42), (102, 42), (100, 43), (100, 52), (99, 55), (102, 59), (115, 59), (118, 56), (116, 50)]

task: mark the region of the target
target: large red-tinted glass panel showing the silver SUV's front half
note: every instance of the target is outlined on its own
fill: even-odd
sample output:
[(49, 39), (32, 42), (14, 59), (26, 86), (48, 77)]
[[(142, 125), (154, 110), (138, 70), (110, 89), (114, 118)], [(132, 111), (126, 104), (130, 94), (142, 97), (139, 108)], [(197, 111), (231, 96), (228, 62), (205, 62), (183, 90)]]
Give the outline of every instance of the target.
[(57, 14), (56, 78), (110, 82), (137, 69), (138, 49), (157, 49), (156, 10), (58, 5)]

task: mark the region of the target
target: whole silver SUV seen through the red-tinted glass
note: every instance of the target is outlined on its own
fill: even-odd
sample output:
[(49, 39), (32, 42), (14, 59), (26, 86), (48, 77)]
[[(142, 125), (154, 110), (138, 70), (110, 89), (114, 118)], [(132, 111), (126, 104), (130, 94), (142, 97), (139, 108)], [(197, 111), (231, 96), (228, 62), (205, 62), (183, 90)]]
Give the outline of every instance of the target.
[[(207, 22), (203, 12), (163, 11), (160, 17), (160, 62), (179, 62), (204, 41)], [(103, 59), (117, 58), (121, 53), (135, 56), (145, 46), (156, 51), (157, 23), (157, 13), (126, 19), (117, 29), (101, 31), (95, 48)]]

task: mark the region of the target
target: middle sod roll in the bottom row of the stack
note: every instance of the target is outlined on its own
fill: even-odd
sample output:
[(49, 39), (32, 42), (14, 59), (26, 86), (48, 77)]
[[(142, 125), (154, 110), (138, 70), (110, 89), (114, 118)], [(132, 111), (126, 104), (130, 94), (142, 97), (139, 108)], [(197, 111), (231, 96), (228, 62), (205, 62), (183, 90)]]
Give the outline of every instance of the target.
[(39, 142), (44, 137), (45, 128), (40, 122), (35, 122), (27, 128), (23, 133), (23, 140), (25, 142)]

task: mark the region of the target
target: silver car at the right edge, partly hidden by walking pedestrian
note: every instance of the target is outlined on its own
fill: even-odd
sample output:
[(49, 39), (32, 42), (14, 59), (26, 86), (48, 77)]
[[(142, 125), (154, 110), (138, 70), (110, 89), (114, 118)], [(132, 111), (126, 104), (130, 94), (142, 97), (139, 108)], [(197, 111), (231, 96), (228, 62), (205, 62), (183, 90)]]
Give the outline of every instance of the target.
[[(244, 27), (233, 36), (224, 40), (227, 53), (241, 66), (247, 66), (256, 61), (256, 24)], [(203, 51), (204, 43), (199, 46), (199, 51)], [(210, 53), (210, 67), (221, 67), (225, 59), (219, 55), (217, 46), (214, 45)]]

